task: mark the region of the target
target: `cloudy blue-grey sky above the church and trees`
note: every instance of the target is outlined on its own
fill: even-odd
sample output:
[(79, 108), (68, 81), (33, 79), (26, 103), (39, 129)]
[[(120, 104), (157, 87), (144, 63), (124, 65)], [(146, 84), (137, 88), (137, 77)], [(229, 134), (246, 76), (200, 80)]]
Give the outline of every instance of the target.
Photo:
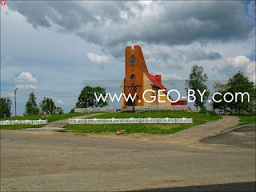
[(254, 1), (6, 1), (1, 96), (18, 88), (18, 115), (31, 91), (69, 112), (84, 85), (120, 86), (132, 41), (170, 82), (194, 64), (212, 81), (239, 70), (255, 81)]

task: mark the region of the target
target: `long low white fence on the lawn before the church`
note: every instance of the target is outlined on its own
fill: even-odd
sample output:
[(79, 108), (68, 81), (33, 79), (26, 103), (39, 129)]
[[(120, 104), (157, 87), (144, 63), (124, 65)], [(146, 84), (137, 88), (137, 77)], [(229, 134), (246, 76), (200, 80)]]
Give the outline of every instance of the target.
[(69, 124), (193, 123), (193, 118), (70, 118)]

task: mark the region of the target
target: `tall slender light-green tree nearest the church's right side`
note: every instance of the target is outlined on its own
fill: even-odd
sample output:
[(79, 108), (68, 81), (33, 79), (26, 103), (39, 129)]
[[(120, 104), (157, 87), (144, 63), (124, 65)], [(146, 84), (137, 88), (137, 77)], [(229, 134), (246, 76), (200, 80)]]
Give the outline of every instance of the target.
[[(196, 97), (194, 101), (194, 106), (198, 109), (198, 106), (200, 108), (204, 107), (206, 104), (206, 99), (210, 95), (210, 91), (207, 89), (206, 82), (207, 82), (207, 74), (203, 73), (203, 67), (194, 65), (191, 67), (191, 73), (188, 79), (186, 79), (186, 91), (187, 90), (194, 90), (194, 96)], [(198, 90), (202, 93), (204, 90), (206, 90), (205, 94), (201, 97), (198, 93)]]

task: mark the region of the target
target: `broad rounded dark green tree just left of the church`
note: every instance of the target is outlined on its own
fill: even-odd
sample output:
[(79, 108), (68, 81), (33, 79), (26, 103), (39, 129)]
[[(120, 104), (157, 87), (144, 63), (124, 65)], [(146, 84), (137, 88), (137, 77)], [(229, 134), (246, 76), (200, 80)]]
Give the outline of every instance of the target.
[(103, 102), (102, 99), (97, 102), (94, 93), (99, 96), (102, 94), (103, 97), (106, 96), (106, 90), (102, 87), (92, 87), (86, 86), (82, 89), (81, 94), (78, 97), (78, 102), (76, 103), (76, 107), (78, 108), (88, 108), (88, 107), (98, 107), (98, 106), (106, 106), (107, 102)]

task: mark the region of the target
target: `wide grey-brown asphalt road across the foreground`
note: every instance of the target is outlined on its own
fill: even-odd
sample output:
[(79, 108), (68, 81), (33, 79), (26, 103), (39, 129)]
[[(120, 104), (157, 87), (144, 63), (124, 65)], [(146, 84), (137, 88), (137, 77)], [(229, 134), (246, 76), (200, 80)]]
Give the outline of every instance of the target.
[(1, 131), (1, 191), (153, 189), (254, 191), (255, 149)]

